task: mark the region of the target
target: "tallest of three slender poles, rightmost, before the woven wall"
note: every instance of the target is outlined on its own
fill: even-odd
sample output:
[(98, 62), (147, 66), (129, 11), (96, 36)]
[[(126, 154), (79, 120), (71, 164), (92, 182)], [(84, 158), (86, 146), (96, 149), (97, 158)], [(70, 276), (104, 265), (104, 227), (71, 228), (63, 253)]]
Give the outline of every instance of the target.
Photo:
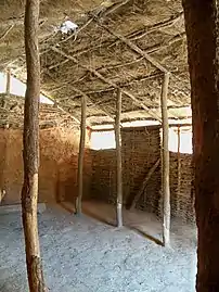
[(164, 195), (164, 221), (163, 221), (163, 243), (164, 246), (170, 244), (170, 190), (169, 190), (169, 122), (167, 110), (167, 94), (169, 85), (169, 74), (164, 75), (162, 85), (162, 123), (163, 123), (163, 144), (162, 144), (162, 189)]

